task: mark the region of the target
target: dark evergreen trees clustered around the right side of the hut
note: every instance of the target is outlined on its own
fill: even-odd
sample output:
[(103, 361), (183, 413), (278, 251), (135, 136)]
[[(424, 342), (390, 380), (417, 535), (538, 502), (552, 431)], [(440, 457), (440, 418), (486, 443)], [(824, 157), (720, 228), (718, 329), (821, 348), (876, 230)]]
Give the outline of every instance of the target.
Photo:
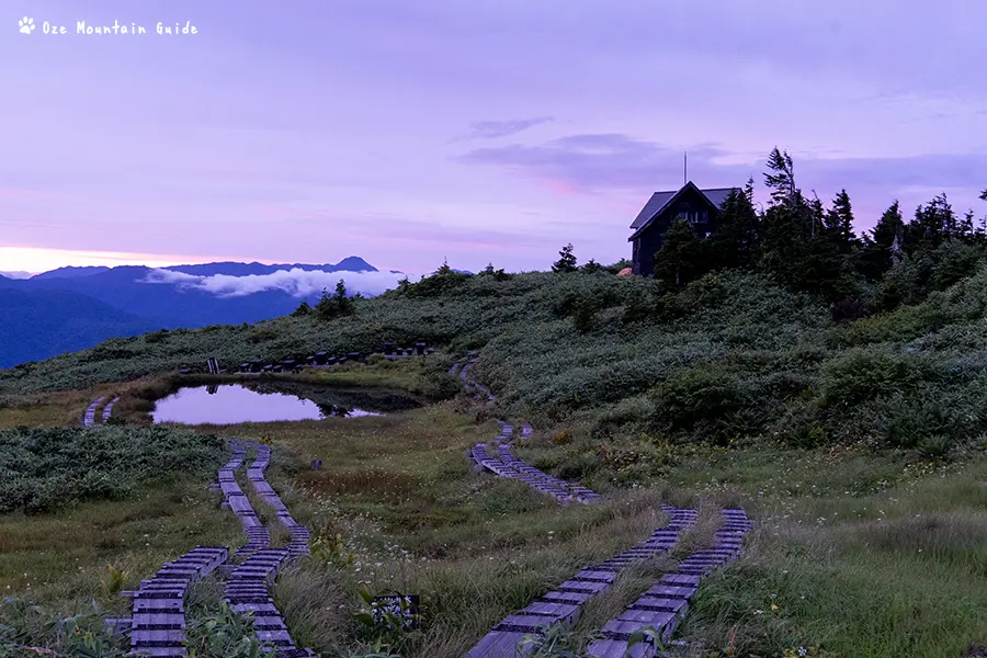
[[(752, 269), (827, 298), (835, 318), (859, 317), (870, 305), (886, 310), (921, 300), (972, 274), (987, 254), (987, 217), (976, 222), (973, 211), (958, 217), (945, 194), (920, 205), (907, 223), (896, 201), (870, 232), (858, 236), (847, 191), (829, 207), (815, 193), (807, 197), (787, 152), (771, 151), (764, 183), (768, 207), (755, 207), (749, 180), (724, 201), (706, 238), (688, 223), (672, 224), (655, 254), (655, 276), (681, 287), (713, 271)], [(987, 190), (980, 198), (987, 201)], [(567, 249), (554, 271), (569, 271)]]

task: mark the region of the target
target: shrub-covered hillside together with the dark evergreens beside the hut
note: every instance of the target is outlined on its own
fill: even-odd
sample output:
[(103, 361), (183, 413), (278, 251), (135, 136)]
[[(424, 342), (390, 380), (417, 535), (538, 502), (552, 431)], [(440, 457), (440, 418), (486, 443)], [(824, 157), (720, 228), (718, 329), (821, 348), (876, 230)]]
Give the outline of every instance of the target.
[(209, 356), (236, 367), (424, 339), (444, 354), (430, 360), (432, 390), (451, 393), (452, 359), (480, 350), (476, 371), (500, 412), (597, 441), (862, 442), (929, 456), (978, 445), (985, 226), (939, 195), (908, 222), (895, 202), (856, 236), (846, 191), (829, 208), (807, 198), (778, 149), (767, 169), (767, 209), (755, 209), (750, 181), (713, 235), (673, 224), (654, 277), (614, 276), (623, 263), (579, 268), (569, 245), (553, 272), (444, 264), (373, 299), (348, 298), (340, 282), (274, 320), (161, 330), (0, 371), (0, 404), (202, 368)]

